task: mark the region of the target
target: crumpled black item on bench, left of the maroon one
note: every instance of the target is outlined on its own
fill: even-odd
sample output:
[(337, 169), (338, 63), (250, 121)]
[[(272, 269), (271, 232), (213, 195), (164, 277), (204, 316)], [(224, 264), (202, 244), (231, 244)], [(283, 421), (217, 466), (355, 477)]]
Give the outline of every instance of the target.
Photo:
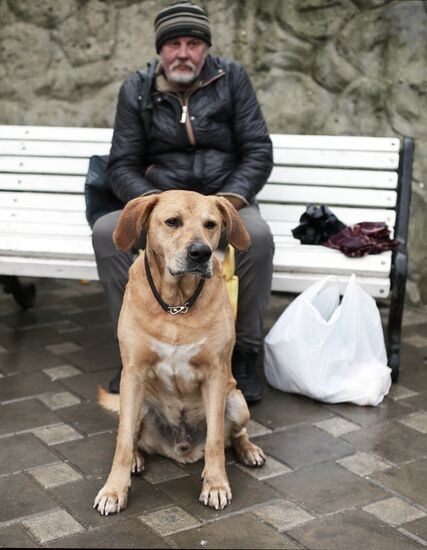
[(292, 235), (302, 244), (323, 244), (346, 227), (324, 204), (309, 204)]

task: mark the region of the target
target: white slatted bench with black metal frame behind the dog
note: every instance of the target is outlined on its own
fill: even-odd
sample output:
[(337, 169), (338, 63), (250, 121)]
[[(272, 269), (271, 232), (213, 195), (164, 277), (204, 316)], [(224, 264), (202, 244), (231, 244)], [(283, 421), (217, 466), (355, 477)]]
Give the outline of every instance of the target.
[[(0, 276), (98, 279), (85, 217), (91, 155), (109, 153), (112, 130), (0, 126)], [(326, 274), (344, 289), (352, 273), (375, 298), (391, 293), (389, 362), (397, 378), (406, 282), (413, 140), (272, 135), (274, 169), (258, 195), (274, 234), (273, 290), (301, 292)], [(307, 203), (345, 224), (385, 221), (401, 246), (347, 258), (301, 245), (291, 229)], [(2, 278), (7, 284), (16, 279)]]

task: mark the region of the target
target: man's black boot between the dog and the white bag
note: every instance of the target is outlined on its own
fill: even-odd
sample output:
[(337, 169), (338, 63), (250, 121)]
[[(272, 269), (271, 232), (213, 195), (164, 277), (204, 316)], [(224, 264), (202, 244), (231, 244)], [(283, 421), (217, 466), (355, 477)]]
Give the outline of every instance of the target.
[(256, 373), (258, 353), (250, 349), (234, 348), (231, 370), (248, 403), (256, 403), (262, 397), (262, 385)]

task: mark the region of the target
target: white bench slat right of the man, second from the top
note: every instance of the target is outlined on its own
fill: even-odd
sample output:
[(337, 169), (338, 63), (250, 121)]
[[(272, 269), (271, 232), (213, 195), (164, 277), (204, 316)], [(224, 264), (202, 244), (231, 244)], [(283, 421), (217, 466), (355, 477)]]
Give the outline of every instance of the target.
[(274, 164), (285, 166), (330, 166), (336, 168), (378, 168), (397, 170), (398, 153), (371, 153), (365, 151), (332, 151), (306, 149), (273, 150)]

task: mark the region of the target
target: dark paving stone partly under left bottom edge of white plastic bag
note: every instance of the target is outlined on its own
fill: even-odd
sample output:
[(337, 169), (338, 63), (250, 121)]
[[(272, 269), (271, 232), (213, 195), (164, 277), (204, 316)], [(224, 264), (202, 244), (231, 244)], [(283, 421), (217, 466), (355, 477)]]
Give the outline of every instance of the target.
[(316, 422), (332, 416), (323, 404), (270, 387), (266, 388), (262, 401), (251, 406), (250, 413), (252, 420), (272, 429)]

